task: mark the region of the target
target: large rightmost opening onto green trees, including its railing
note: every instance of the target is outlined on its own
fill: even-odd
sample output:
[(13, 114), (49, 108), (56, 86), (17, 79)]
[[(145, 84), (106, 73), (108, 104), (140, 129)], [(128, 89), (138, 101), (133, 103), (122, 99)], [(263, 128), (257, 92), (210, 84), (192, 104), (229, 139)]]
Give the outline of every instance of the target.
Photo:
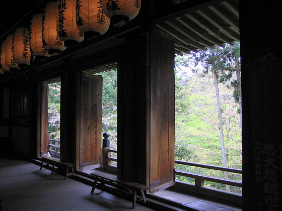
[[(242, 193), (239, 47), (235, 42), (175, 57), (177, 180)], [(239, 183), (209, 181), (210, 177)]]

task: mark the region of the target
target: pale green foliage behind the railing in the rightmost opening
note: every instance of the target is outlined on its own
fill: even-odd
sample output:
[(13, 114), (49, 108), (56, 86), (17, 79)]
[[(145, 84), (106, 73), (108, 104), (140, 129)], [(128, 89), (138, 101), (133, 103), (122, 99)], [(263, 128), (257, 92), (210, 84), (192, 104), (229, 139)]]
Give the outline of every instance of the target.
[[(220, 50), (222, 51), (220, 56), (227, 55), (223, 65), (225, 67), (221, 68), (223, 71), (220, 70), (218, 75), (226, 163), (228, 167), (241, 169), (240, 116), (237, 113), (236, 100), (233, 98), (234, 93), (232, 93), (236, 87), (230, 85), (236, 80), (235, 61), (225, 48)], [(175, 159), (223, 165), (214, 74), (213, 71), (202, 70), (204, 65), (194, 67), (194, 56), (184, 54), (184, 56), (175, 57)], [(175, 167), (177, 170), (227, 177), (220, 171), (178, 164)], [(234, 173), (229, 173), (228, 177), (242, 179), (241, 175)], [(193, 182), (186, 177), (177, 179)], [(225, 186), (222, 187), (213, 182), (205, 182), (205, 185), (226, 189)], [(230, 189), (238, 193), (242, 191), (233, 186), (230, 186)]]

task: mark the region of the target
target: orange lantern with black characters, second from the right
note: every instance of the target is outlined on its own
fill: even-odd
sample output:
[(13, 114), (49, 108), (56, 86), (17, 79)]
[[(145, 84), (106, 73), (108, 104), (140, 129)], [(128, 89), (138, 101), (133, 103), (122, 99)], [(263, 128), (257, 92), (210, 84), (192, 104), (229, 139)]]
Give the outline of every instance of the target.
[(110, 19), (104, 14), (101, 0), (77, 0), (77, 26), (86, 40), (105, 34)]

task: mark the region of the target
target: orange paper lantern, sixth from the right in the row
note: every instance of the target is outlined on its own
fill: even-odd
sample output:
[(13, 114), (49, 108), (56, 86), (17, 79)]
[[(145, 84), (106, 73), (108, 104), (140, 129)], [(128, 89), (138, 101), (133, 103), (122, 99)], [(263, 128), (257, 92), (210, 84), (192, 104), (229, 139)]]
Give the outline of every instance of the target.
[(14, 58), (20, 68), (30, 65), (29, 29), (20, 27), (15, 31)]

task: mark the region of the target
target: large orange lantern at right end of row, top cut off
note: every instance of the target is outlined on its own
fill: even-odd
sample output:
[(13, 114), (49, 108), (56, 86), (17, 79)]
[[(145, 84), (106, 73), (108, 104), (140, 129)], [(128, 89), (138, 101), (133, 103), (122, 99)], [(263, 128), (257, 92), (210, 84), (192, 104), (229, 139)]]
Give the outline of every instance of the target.
[(121, 27), (135, 18), (141, 7), (141, 0), (102, 0), (102, 8), (114, 27)]

